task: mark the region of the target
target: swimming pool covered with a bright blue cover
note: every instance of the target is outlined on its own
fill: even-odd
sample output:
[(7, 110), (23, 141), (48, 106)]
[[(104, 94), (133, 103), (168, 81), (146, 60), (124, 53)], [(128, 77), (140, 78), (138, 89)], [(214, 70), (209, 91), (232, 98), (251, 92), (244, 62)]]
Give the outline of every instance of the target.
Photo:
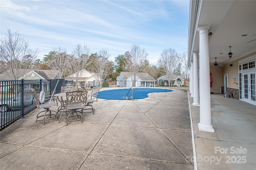
[[(106, 100), (126, 100), (126, 94), (128, 93), (129, 88), (114, 89), (114, 90), (105, 90), (99, 92), (99, 99)], [(133, 99), (144, 99), (148, 97), (148, 93), (155, 92), (172, 92), (173, 90), (164, 89), (164, 88), (133, 88)], [(130, 90), (127, 95), (132, 96), (132, 90)]]

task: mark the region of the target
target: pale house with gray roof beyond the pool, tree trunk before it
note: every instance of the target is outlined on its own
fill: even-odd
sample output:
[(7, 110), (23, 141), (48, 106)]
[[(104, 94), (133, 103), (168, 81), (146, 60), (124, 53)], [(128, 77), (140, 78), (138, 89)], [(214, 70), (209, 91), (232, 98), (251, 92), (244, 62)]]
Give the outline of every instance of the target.
[(131, 72), (120, 72), (116, 78), (116, 84), (120, 87), (154, 87), (156, 80), (148, 73), (138, 72), (136, 75), (136, 82), (133, 85), (133, 74)]

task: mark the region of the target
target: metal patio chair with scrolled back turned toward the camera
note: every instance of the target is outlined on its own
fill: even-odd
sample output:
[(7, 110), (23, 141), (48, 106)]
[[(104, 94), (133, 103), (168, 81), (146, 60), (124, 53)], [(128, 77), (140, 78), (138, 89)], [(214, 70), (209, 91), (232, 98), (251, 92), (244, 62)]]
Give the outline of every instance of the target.
[[(84, 110), (84, 107), (86, 107), (86, 99), (87, 99), (87, 92), (83, 92), (80, 90), (76, 90), (73, 92), (66, 92), (66, 102), (64, 105), (64, 109), (62, 110), (62, 113), (60, 114), (60, 119), (62, 114), (64, 113), (64, 110), (66, 112), (66, 118), (64, 121), (66, 121), (66, 125), (68, 125), (68, 119), (70, 117), (78, 117), (78, 119), (72, 120), (72, 121), (78, 121), (81, 120), (83, 123), (83, 115), (82, 112)], [(81, 111), (80, 111), (81, 109)], [(59, 119), (59, 123), (60, 123)]]

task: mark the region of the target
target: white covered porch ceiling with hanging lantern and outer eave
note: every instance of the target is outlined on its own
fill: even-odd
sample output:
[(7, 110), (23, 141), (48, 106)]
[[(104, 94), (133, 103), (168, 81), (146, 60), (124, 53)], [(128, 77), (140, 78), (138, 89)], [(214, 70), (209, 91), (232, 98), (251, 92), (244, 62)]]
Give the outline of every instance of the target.
[(210, 25), (209, 64), (214, 63), (215, 57), (218, 64), (226, 64), (256, 51), (255, 0), (190, 1), (188, 66), (193, 61), (192, 52), (199, 52), (197, 25)]

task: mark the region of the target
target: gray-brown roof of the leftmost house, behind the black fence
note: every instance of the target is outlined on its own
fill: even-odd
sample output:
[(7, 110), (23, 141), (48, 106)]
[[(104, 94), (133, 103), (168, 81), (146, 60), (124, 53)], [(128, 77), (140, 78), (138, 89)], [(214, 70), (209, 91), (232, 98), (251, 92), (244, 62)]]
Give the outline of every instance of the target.
[[(15, 72), (18, 71), (18, 80), (22, 79), (24, 76), (30, 74), (31, 72), (35, 72), (38, 74), (42, 79), (56, 79), (58, 75), (57, 70), (32, 70), (32, 69), (15, 69)], [(4, 72), (0, 74), (0, 80), (11, 80), (8, 76), (8, 70), (7, 72)]]

